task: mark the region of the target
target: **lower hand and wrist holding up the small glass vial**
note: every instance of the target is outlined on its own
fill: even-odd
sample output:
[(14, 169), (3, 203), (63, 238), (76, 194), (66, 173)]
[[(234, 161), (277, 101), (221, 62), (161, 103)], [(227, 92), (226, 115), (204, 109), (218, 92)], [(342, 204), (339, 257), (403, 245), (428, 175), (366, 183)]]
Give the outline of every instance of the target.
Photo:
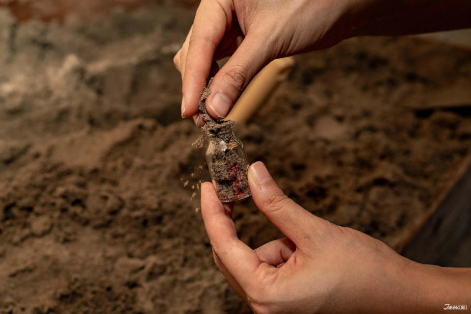
[(260, 211), (287, 237), (252, 250), (237, 238), (234, 204), (211, 183), (201, 214), (214, 261), (254, 313), (443, 313), (471, 305), (471, 268), (410, 261), (383, 242), (311, 214), (278, 188), (262, 162), (248, 170)]

